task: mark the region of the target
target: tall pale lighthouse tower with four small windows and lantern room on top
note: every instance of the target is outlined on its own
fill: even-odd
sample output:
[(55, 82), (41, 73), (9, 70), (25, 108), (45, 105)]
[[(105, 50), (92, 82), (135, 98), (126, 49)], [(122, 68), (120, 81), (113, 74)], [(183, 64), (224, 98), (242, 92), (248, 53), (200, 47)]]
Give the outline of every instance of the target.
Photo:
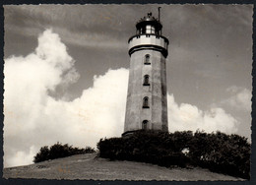
[(168, 131), (168, 39), (161, 35), (161, 28), (160, 19), (148, 13), (136, 24), (136, 34), (128, 40), (130, 73), (122, 136), (142, 129)]

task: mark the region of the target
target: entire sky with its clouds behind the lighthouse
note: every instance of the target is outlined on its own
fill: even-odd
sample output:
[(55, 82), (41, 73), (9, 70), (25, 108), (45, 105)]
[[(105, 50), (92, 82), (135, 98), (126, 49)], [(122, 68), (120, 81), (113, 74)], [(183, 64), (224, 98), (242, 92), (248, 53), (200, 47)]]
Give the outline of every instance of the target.
[(252, 5), (6, 5), (4, 167), (57, 142), (96, 148), (121, 136), (127, 41), (159, 6), (169, 132), (251, 141)]

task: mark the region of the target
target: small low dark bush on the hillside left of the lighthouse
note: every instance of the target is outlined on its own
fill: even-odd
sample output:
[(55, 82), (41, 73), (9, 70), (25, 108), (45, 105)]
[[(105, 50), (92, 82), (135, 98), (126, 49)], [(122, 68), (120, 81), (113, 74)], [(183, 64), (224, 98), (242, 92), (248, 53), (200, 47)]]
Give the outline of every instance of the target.
[(44, 146), (40, 149), (40, 151), (33, 156), (33, 162), (40, 162), (48, 159), (60, 158), (65, 156), (70, 156), (74, 154), (92, 154), (96, 153), (95, 149), (91, 147), (87, 147), (86, 149), (73, 148), (68, 144), (62, 145), (61, 143), (54, 144), (53, 146), (48, 148), (48, 146)]

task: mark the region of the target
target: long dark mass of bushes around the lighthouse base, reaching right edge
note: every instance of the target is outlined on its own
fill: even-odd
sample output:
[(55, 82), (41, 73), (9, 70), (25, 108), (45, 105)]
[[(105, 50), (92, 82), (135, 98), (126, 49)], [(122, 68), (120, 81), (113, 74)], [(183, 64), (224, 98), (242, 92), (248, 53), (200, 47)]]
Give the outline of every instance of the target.
[(100, 157), (110, 159), (142, 161), (166, 167), (201, 166), (250, 178), (250, 144), (238, 135), (138, 131), (129, 137), (100, 139), (97, 149)]

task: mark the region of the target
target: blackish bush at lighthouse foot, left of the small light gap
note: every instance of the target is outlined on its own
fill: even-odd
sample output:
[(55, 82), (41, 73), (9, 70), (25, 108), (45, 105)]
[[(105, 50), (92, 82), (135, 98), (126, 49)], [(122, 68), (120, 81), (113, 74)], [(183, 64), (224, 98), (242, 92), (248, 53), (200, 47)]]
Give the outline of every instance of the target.
[(129, 137), (101, 139), (97, 149), (100, 157), (149, 162), (166, 167), (185, 167), (189, 161), (172, 138), (163, 132), (138, 131)]

